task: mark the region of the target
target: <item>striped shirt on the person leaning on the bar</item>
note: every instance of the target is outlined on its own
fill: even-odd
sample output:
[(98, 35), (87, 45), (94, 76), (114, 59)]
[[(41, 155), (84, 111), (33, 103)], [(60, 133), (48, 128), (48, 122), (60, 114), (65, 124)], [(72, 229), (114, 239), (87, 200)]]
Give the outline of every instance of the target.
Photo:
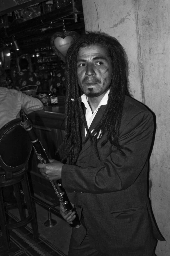
[(26, 114), (43, 109), (43, 103), (20, 91), (0, 87), (0, 128), (20, 117), (20, 111)]

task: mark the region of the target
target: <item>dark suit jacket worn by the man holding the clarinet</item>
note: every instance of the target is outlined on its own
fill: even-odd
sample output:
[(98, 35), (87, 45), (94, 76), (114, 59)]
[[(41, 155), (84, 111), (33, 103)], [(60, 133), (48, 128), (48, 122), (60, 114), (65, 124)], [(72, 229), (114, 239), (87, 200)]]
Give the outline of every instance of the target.
[[(92, 130), (105, 112), (101, 106)], [(98, 142), (101, 160), (88, 140), (82, 145), (76, 165), (65, 164), (62, 183), (70, 201), (83, 210), (92, 247), (114, 256), (150, 256), (155, 239), (163, 240), (152, 219), (147, 197), (148, 154), (153, 136), (153, 116), (148, 109), (126, 96), (119, 143), (130, 149), (122, 156), (106, 138)], [(86, 230), (73, 230), (81, 243)]]

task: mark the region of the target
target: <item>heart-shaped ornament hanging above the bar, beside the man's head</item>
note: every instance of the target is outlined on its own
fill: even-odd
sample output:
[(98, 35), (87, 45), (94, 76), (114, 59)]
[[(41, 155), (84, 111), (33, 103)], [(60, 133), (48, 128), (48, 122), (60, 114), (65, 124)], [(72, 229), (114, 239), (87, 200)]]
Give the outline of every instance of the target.
[(56, 32), (51, 37), (51, 48), (58, 57), (65, 62), (65, 56), (68, 48), (74, 42), (78, 33), (75, 31)]

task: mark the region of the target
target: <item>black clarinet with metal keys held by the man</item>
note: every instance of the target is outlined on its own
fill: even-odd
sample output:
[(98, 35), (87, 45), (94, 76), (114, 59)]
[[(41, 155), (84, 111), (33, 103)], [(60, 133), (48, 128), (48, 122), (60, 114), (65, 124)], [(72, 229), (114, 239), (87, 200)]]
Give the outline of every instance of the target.
[[(27, 118), (24, 112), (21, 111), (21, 126), (28, 132), (29, 138), (33, 143), (33, 147), (35, 150), (35, 154), (40, 161), (40, 163), (50, 163), (48, 156), (46, 154), (45, 149), (43, 148), (41, 142), (39, 141), (36, 133), (33, 130), (32, 124), (30, 120)], [(70, 203), (68, 196), (60, 183), (59, 180), (50, 180), (55, 194), (59, 197), (59, 201), (64, 206), (64, 210), (70, 212), (73, 210), (73, 206)], [(76, 218), (72, 221), (72, 224), (69, 224), (71, 228), (76, 229), (81, 226), (81, 223), (78, 218), (78, 214), (76, 213)]]

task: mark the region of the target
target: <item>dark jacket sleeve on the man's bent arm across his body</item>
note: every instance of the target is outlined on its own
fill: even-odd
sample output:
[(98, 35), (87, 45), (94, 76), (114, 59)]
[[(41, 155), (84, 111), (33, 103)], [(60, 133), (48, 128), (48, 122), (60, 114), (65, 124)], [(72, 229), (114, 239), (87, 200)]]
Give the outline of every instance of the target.
[(62, 183), (68, 192), (108, 193), (131, 186), (143, 170), (153, 136), (153, 116), (149, 111), (137, 113), (120, 132), (123, 156), (115, 146), (101, 166), (79, 167), (65, 164)]

